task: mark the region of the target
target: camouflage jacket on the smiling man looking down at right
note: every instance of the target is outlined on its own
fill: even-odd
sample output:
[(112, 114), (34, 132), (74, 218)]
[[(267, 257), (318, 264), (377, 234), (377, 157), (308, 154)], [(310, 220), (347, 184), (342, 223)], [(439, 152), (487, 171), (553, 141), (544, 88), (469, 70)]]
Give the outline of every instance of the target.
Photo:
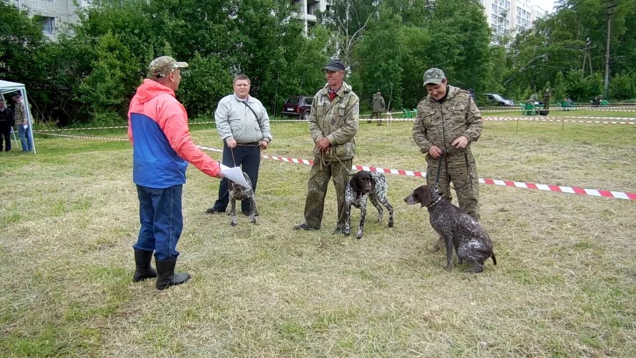
[(448, 86), (448, 96), (443, 103), (426, 96), (417, 104), (413, 140), (424, 154), (429, 152), (432, 145), (453, 154), (461, 151), (451, 145), (453, 141), (466, 136), (466, 150), (470, 150), (471, 143), (480, 138), (482, 129), (481, 113), (470, 94)]

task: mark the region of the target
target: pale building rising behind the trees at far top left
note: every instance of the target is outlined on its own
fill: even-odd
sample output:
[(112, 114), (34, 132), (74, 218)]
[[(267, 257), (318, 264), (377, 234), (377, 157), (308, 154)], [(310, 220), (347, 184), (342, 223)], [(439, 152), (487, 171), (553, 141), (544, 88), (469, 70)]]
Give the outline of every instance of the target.
[(76, 11), (79, 8), (90, 6), (99, 0), (13, 0), (20, 10), (27, 10), (33, 16), (41, 20), (42, 32), (52, 38), (57, 34), (57, 29), (64, 24), (76, 24), (78, 17)]

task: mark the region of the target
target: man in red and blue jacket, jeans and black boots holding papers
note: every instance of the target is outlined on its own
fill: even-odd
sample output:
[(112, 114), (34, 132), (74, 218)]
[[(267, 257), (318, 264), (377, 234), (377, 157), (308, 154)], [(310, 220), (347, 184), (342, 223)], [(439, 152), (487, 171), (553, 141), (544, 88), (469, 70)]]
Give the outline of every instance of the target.
[[(192, 142), (188, 113), (175, 98), (186, 62), (169, 56), (149, 65), (150, 79), (137, 88), (128, 109), (128, 138), (132, 144), (132, 180), (137, 186), (141, 229), (135, 250), (133, 280), (156, 277), (156, 288), (167, 289), (190, 280), (174, 273), (177, 242), (183, 231), (181, 196), (188, 162), (214, 178), (223, 178), (214, 159)], [(150, 265), (155, 254), (156, 271)]]

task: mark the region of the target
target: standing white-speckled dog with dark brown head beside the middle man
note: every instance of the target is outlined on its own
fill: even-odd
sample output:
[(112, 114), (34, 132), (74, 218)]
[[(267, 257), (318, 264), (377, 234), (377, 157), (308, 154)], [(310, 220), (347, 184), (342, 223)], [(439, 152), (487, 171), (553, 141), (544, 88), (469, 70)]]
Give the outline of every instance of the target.
[(370, 171), (359, 171), (354, 175), (345, 189), (345, 230), (344, 234), (351, 233), (351, 206), (360, 209), (360, 226), (356, 234), (357, 239), (362, 238), (364, 222), (366, 220), (366, 198), (371, 199), (371, 203), (378, 210), (378, 222), (382, 222), (382, 205), (389, 210), (389, 227), (393, 227), (393, 207), (387, 198), (389, 185), (387, 178), (381, 173)]

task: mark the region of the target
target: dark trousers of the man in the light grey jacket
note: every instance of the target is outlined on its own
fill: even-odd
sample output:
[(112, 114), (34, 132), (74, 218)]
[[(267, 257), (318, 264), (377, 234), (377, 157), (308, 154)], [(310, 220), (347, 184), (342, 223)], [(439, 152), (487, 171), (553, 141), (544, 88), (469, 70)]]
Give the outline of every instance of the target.
[[(232, 157), (234, 152), (234, 157)], [(252, 182), (252, 191), (256, 194), (256, 183), (258, 182), (258, 168), (261, 165), (261, 148), (258, 146), (237, 145), (236, 148), (230, 149), (227, 143), (223, 143), (223, 165), (233, 168), (240, 166), (242, 171), (247, 173), (249, 180)], [(228, 180), (223, 178), (219, 185), (219, 199), (214, 203), (214, 208), (219, 211), (225, 211), (230, 203), (230, 193), (228, 192)], [(249, 200), (243, 200), (240, 203), (242, 211), (251, 211), (252, 204)]]

